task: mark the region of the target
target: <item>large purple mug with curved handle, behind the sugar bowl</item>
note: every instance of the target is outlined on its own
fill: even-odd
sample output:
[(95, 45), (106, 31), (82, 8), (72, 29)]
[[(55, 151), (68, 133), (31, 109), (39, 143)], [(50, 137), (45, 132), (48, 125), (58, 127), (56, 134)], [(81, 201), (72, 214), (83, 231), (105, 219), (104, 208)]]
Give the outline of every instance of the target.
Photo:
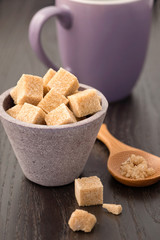
[(57, 0), (33, 16), (30, 44), (48, 68), (58, 69), (40, 41), (44, 23), (55, 16), (63, 67), (109, 102), (117, 101), (131, 93), (142, 70), (152, 5), (153, 0)]

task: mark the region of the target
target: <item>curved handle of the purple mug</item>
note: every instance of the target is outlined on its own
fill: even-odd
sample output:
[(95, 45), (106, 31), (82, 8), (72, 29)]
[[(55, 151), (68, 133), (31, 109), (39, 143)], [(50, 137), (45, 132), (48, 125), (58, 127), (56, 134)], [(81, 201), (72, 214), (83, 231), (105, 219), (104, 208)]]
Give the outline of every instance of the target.
[(32, 18), (29, 25), (29, 42), (38, 58), (48, 67), (58, 70), (58, 67), (51, 62), (45, 54), (41, 44), (41, 30), (44, 23), (51, 17), (57, 17), (61, 25), (69, 29), (72, 25), (72, 16), (69, 8), (49, 6), (39, 10)]

